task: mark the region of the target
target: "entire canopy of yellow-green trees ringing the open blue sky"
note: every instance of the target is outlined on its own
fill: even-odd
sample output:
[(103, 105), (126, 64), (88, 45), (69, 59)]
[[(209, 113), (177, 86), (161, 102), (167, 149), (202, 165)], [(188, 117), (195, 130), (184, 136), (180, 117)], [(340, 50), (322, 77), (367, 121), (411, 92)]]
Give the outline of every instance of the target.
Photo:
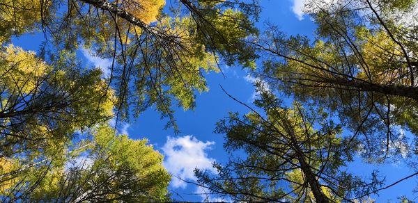
[[(194, 111), (228, 69), (256, 97), (219, 87), (245, 111), (215, 124), (228, 159), (196, 165), (191, 182), (210, 195), (370, 202), (417, 176), (418, 2), (306, 0), (306, 36), (265, 22), (260, 3), (0, 0), (1, 202), (176, 201), (159, 147), (121, 123), (151, 109), (180, 133), (176, 111)], [(109, 63), (89, 67), (82, 51)], [(376, 170), (359, 176), (356, 161)], [(379, 164), (391, 163), (412, 173), (387, 182)]]

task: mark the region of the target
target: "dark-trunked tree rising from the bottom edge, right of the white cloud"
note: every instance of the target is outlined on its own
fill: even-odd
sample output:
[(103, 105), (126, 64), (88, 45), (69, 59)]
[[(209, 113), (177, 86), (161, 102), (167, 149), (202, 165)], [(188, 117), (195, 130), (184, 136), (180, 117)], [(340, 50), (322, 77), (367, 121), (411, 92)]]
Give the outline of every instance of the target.
[(215, 177), (196, 170), (200, 186), (237, 202), (353, 202), (382, 184), (376, 173), (366, 184), (343, 170), (357, 147), (324, 111), (298, 102), (284, 107), (270, 92), (254, 104), (263, 113), (250, 108), (217, 123), (232, 157), (225, 166), (215, 164)]

